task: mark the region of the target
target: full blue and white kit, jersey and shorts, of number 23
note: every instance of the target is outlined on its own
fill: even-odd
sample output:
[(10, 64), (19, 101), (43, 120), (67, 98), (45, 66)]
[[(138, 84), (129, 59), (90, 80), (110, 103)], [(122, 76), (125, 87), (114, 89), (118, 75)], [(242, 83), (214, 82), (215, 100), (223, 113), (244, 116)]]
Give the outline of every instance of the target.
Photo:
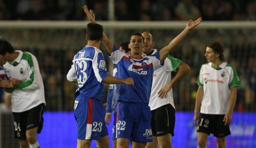
[(106, 62), (100, 49), (85, 46), (76, 53), (67, 79), (78, 83), (74, 106), (77, 139), (99, 140), (108, 135), (104, 121), (106, 111), (101, 102), (104, 99), (101, 81), (107, 76)]

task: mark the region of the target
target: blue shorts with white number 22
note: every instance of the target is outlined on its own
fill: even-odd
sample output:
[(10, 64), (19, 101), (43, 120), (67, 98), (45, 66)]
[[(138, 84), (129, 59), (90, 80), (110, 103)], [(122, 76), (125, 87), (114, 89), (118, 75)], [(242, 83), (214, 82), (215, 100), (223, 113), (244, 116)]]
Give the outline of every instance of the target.
[(150, 107), (146, 103), (121, 101), (117, 111), (117, 138), (152, 142)]

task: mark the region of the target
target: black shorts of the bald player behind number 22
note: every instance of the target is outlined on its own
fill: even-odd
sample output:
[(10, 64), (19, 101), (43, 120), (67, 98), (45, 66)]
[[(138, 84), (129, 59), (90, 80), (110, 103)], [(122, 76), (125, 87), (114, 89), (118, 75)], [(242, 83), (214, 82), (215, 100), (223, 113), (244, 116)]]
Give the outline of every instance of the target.
[(153, 136), (163, 136), (170, 133), (174, 136), (175, 109), (166, 104), (151, 111), (151, 128)]

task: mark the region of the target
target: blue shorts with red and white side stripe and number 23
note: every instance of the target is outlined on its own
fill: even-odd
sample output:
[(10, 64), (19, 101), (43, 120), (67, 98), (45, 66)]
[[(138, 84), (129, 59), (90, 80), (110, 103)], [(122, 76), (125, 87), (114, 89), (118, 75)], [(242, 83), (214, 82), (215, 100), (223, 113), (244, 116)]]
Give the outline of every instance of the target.
[(77, 122), (77, 139), (100, 140), (108, 135), (105, 123), (106, 109), (101, 101), (86, 98), (80, 93), (74, 105), (75, 119)]

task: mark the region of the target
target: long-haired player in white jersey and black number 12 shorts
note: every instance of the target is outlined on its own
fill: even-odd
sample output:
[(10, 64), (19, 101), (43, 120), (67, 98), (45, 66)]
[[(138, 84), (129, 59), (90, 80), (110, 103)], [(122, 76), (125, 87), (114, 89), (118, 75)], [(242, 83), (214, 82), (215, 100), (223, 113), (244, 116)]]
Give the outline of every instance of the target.
[(196, 81), (199, 85), (194, 110), (197, 143), (198, 147), (205, 148), (207, 137), (212, 133), (217, 138), (217, 147), (226, 147), (240, 80), (235, 67), (225, 62), (224, 49), (219, 42), (206, 47), (205, 57), (208, 63), (201, 66)]

